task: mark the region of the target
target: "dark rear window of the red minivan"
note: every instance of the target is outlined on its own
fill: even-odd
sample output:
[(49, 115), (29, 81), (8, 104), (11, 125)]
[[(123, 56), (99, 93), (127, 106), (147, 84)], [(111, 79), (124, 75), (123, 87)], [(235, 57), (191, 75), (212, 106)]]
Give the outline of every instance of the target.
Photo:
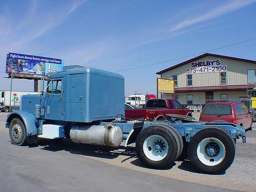
[(204, 115), (231, 115), (232, 108), (230, 105), (225, 104), (213, 104), (207, 105), (203, 110)]

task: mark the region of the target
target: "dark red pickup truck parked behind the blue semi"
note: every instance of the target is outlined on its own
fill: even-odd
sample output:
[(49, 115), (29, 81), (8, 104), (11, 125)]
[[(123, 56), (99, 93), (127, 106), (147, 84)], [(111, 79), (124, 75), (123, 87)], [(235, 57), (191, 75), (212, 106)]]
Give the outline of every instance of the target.
[(125, 116), (129, 119), (136, 118), (156, 118), (156, 120), (169, 119), (165, 114), (179, 114), (192, 117), (192, 111), (184, 108), (177, 100), (174, 99), (150, 99), (145, 108), (128, 108), (125, 109)]

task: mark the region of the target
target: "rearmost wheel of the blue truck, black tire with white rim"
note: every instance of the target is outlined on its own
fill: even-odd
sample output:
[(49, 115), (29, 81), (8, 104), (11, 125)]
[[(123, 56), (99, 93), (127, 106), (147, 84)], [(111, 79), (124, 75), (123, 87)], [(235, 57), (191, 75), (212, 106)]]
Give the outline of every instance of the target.
[(235, 158), (232, 136), (218, 127), (198, 131), (188, 144), (188, 157), (201, 172), (219, 174), (227, 170)]

